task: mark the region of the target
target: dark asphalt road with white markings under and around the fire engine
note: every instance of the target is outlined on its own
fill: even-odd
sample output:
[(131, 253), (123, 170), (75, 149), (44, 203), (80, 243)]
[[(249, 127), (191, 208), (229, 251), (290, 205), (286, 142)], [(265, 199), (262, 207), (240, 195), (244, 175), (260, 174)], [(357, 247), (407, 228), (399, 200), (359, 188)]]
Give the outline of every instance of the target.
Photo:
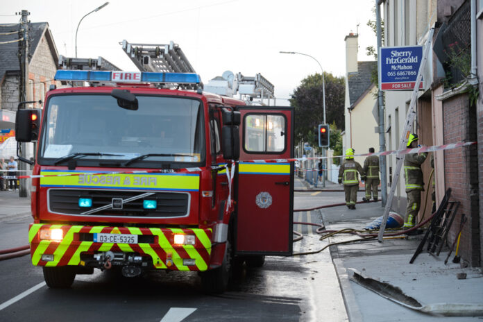
[[(334, 194), (296, 193), (295, 208), (342, 202)], [(321, 223), (321, 212), (296, 212), (294, 221)], [(27, 244), (30, 222), (1, 221), (0, 249)], [(294, 253), (325, 245), (316, 227), (294, 229), (305, 235)], [(30, 256), (1, 261), (0, 285), (1, 321), (347, 321), (328, 251), (266, 257), (262, 269), (245, 269), (219, 296), (203, 294), (196, 273), (164, 271), (123, 278), (96, 270), (76, 276), (71, 289), (49, 289)]]

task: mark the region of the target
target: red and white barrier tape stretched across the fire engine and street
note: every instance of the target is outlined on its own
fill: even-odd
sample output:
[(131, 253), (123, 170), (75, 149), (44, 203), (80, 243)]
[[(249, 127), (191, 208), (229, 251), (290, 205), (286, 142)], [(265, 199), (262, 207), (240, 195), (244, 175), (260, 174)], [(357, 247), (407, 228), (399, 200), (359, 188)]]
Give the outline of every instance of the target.
[[(405, 149), (402, 151), (384, 151), (384, 152), (375, 152), (375, 153), (364, 153), (364, 154), (355, 154), (355, 155), (349, 155), (351, 157), (364, 157), (368, 155), (406, 155), (410, 153), (424, 153), (424, 152), (434, 152), (434, 151), (443, 151), (443, 150), (451, 150), (451, 149), (457, 149), (461, 146), (470, 146), (473, 144), (477, 144), (477, 142), (457, 142), (457, 143), (452, 143), (452, 144), (443, 144), (439, 146), (421, 146), (419, 148), (414, 148), (414, 149)], [(305, 161), (305, 160), (320, 160), (320, 159), (329, 159), (329, 158), (345, 158), (348, 155), (334, 155), (332, 157), (314, 157), (314, 158), (289, 158), (289, 159), (264, 159), (264, 160), (239, 160), (237, 162), (243, 162), (243, 163), (285, 163), (285, 162), (294, 162), (294, 161)], [(234, 164), (234, 162), (232, 162)], [(223, 167), (223, 166), (222, 166)], [(228, 168), (228, 164), (225, 164), (225, 168)], [(212, 167), (213, 169), (219, 169), (220, 167)], [(179, 171), (188, 171), (188, 172), (193, 172), (193, 171), (201, 171), (199, 167), (193, 167), (193, 168), (184, 168), (184, 169), (177, 169)], [(319, 169), (317, 169), (319, 170)], [(174, 173), (175, 171), (173, 170), (164, 170), (164, 169), (153, 169), (153, 170), (142, 170), (142, 171), (113, 171), (113, 172), (97, 172), (97, 173), (89, 173), (92, 176), (105, 176), (106, 174), (144, 174), (144, 173)], [(83, 172), (76, 172), (76, 173), (63, 173), (63, 174), (42, 174), (42, 175), (36, 175), (36, 176), (3, 176), (0, 178), (4, 179), (29, 179), (29, 178), (46, 178), (46, 177), (67, 177), (67, 176), (82, 176), (85, 173)], [(232, 178), (232, 173), (228, 174), (227, 171), (227, 176), (228, 178)]]

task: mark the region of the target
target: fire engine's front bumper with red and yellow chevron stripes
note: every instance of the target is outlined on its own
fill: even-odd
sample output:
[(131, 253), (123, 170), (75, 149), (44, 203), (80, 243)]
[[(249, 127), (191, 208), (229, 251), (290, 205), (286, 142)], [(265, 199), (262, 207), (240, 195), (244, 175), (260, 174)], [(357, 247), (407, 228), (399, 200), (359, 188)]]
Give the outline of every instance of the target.
[[(40, 230), (62, 229), (60, 241), (40, 239)], [(93, 242), (94, 233), (138, 235), (138, 244)], [(194, 235), (194, 245), (174, 244), (174, 234)], [(151, 268), (173, 271), (206, 271), (210, 266), (212, 230), (199, 228), (136, 228), (31, 224), (28, 231), (34, 266), (93, 266), (96, 254), (112, 252), (136, 255)], [(53, 255), (44, 261), (42, 255)], [(99, 258), (99, 256), (97, 256)], [(92, 259), (92, 260), (90, 260)], [(194, 264), (185, 265), (186, 260)], [(193, 262), (193, 261), (189, 261)]]

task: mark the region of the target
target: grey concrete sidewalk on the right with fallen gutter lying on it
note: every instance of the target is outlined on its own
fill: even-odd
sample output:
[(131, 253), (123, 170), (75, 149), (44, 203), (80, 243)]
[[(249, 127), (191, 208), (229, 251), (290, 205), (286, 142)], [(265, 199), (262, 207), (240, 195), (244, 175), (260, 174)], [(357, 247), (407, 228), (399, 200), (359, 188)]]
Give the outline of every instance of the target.
[[(325, 208), (321, 212), (327, 229), (363, 229), (367, 223), (382, 216), (384, 208), (379, 202), (358, 204), (356, 210), (341, 206)], [(355, 235), (337, 235), (331, 237), (330, 242), (357, 238)], [(350, 321), (482, 321), (477, 317), (432, 316), (411, 310), (349, 280), (350, 269), (355, 269), (365, 277), (400, 288), (423, 304), (483, 304), (481, 269), (452, 263), (454, 252), (445, 265), (447, 248), (443, 248), (439, 257), (429, 255), (424, 248), (414, 264), (409, 264), (422, 238), (423, 235), (416, 235), (382, 243), (373, 240), (330, 247)], [(466, 273), (466, 279), (457, 279), (458, 273)]]

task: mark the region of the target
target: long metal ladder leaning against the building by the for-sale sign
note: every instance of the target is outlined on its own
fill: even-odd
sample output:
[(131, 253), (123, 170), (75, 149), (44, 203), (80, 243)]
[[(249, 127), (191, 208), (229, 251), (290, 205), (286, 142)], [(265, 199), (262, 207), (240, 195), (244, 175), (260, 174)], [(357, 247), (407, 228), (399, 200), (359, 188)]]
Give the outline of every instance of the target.
[[(407, 139), (409, 137), (409, 134), (411, 133), (412, 126), (414, 123), (414, 118), (416, 117), (416, 110), (415, 110), (416, 99), (418, 99), (419, 85), (421, 83), (421, 80), (423, 80), (423, 70), (426, 66), (427, 57), (429, 56), (429, 53), (430, 53), (433, 33), (434, 33), (434, 28), (431, 28), (429, 35), (427, 35), (427, 41), (423, 52), (423, 60), (421, 61), (421, 65), (419, 66), (418, 76), (416, 77), (416, 83), (414, 83), (414, 90), (411, 96), (411, 104), (409, 105), (409, 110), (407, 110), (405, 126), (404, 126), (404, 129), (402, 130), (402, 137), (399, 142), (398, 151), (403, 151), (406, 149)], [(394, 172), (394, 178), (391, 184), (391, 190), (387, 196), (386, 206), (384, 208), (384, 214), (382, 215), (381, 227), (378, 234), (379, 242), (382, 242), (382, 237), (384, 237), (384, 230), (386, 229), (387, 218), (389, 217), (389, 210), (391, 210), (391, 204), (392, 204), (394, 192), (396, 192), (396, 187), (399, 182), (402, 163), (404, 162), (404, 155), (396, 154), (396, 160), (398, 160), (398, 163), (396, 164), (396, 171)]]

